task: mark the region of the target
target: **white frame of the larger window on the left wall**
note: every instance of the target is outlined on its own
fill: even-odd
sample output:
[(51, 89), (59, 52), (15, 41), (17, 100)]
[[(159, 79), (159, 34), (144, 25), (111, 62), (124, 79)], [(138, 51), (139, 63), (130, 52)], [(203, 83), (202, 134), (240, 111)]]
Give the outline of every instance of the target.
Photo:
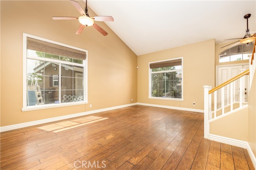
[[(80, 51), (84, 51), (86, 52), (86, 59), (83, 61), (82, 64), (79, 63), (72, 63), (72, 65), (77, 65), (77, 66), (82, 66), (84, 67), (84, 73), (83, 73), (83, 77), (84, 77), (84, 101), (78, 101), (78, 102), (70, 102), (70, 103), (54, 103), (54, 104), (47, 104), (47, 105), (35, 105), (35, 106), (27, 106), (27, 97), (26, 97), (26, 83), (27, 83), (27, 59), (37, 59), (37, 60), (42, 60), (44, 61), (45, 59), (42, 57), (36, 57), (36, 56), (27, 56), (27, 37), (30, 38), (34, 38), (37, 40), (42, 40), (45, 42), (50, 42), (50, 43), (54, 43), (57, 45), (62, 45), (65, 47), (69, 47), (69, 48), (73, 48), (73, 49), (77, 49)], [(54, 63), (60, 63), (59, 64), (59, 75), (60, 73), (60, 68), (61, 68), (61, 64), (70, 64), (70, 62), (67, 61), (61, 61), (61, 60), (56, 60), (56, 59), (46, 59), (47, 61), (50, 62), (54, 62)], [(58, 76), (60, 80), (60, 76)], [(59, 81), (58, 86), (61, 87), (61, 81)], [(60, 91), (59, 91), (60, 93)], [(44, 38), (40, 38), (37, 36), (32, 36), (29, 34), (25, 34), (23, 33), (23, 105), (22, 105), (22, 111), (33, 111), (33, 110), (39, 110), (39, 109), (48, 109), (48, 108), (55, 108), (55, 107), (65, 107), (65, 106), (73, 106), (73, 105), (83, 105), (83, 104), (88, 104), (88, 51), (85, 49), (80, 49), (77, 47), (73, 47), (70, 45), (66, 45), (63, 43), (59, 43), (59, 42), (54, 42), (51, 40), (47, 40)]]

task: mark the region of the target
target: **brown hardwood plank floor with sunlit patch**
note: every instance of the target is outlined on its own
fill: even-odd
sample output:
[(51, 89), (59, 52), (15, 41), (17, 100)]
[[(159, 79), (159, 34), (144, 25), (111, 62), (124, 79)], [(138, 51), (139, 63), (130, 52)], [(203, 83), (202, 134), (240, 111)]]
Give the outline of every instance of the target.
[(254, 170), (246, 149), (203, 138), (203, 120), (136, 105), (2, 132), (0, 168)]

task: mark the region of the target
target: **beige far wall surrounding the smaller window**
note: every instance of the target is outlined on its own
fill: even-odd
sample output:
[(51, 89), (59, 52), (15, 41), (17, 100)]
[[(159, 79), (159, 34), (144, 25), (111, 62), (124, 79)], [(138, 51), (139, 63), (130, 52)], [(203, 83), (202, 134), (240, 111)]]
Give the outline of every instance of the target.
[[(203, 110), (203, 86), (214, 86), (214, 52), (212, 39), (138, 56), (138, 102)], [(148, 99), (148, 63), (177, 57), (183, 57), (184, 101)]]

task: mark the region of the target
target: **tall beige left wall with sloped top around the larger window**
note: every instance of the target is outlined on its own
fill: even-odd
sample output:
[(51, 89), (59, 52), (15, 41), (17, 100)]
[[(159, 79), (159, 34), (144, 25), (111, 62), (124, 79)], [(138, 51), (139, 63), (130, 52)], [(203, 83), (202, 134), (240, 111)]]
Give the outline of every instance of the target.
[[(1, 127), (137, 102), (137, 56), (104, 22), (96, 23), (108, 32), (106, 37), (92, 27), (76, 35), (77, 20), (52, 20), (52, 16), (80, 15), (70, 1), (0, 3)], [(91, 10), (89, 14), (95, 16)], [(92, 108), (87, 104), (21, 111), (23, 33), (88, 50), (88, 101)]]

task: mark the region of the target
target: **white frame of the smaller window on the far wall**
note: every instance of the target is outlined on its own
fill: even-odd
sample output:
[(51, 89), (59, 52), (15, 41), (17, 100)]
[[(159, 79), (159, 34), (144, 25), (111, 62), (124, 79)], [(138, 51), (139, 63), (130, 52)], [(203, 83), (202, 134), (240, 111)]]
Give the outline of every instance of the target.
[[(170, 61), (170, 60), (175, 60), (175, 59), (181, 59), (181, 65), (182, 65), (182, 69), (181, 69), (181, 99), (177, 99), (177, 98), (165, 98), (165, 97), (152, 97), (151, 91), (152, 91), (152, 73), (166, 73), (166, 72), (172, 72), (172, 71), (180, 71), (180, 69), (176, 69), (176, 70), (168, 70), (168, 71), (154, 71), (152, 72), (152, 69), (150, 69), (150, 64), (151, 63), (158, 63), (158, 62), (163, 62), (163, 61)], [(158, 100), (172, 100), (172, 101), (184, 101), (184, 91), (183, 91), (183, 57), (178, 57), (178, 58), (172, 58), (172, 59), (165, 59), (165, 60), (161, 60), (161, 61), (154, 61), (154, 62), (149, 62), (148, 63), (148, 79), (149, 79), (149, 83), (148, 83), (148, 99), (158, 99)]]

